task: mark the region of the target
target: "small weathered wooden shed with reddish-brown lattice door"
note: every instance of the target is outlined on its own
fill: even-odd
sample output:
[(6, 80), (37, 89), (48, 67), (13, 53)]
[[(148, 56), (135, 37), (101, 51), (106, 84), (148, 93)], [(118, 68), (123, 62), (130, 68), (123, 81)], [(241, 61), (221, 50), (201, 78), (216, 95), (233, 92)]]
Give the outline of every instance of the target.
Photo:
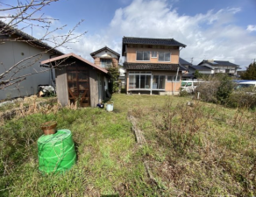
[(62, 106), (77, 101), (81, 107), (96, 107), (106, 99), (104, 76), (108, 71), (75, 53), (44, 60), (41, 66), (55, 69), (56, 93)]

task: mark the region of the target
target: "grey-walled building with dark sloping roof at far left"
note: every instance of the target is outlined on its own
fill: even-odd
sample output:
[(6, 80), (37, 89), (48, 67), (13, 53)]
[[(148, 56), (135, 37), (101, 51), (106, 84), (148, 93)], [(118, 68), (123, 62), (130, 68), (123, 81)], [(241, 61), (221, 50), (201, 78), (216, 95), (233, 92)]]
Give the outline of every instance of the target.
[[(11, 75), (17, 71), (18, 73), (16, 76), (22, 76), (36, 71), (39, 72), (44, 69), (46, 70), (44, 67), (39, 67), (39, 61), (47, 60), (63, 54), (25, 32), (6, 26), (2, 21), (0, 21), (0, 28), (2, 29), (2, 33), (0, 35), (0, 74), (4, 74), (5, 71), (13, 67), (15, 64), (18, 64), (21, 60), (25, 60), (36, 54), (42, 53), (42, 56), (38, 55), (20, 63), (18, 67), (23, 68), (13, 69), (5, 79), (0, 80), (0, 84), (1, 81), (9, 79)], [(44, 53), (46, 50), (50, 51), (48, 53)], [(24, 81), (20, 81), (15, 85), (0, 90), (0, 100), (37, 94), (39, 85), (53, 85), (53, 80), (54, 71), (51, 69), (47, 69), (47, 71), (43, 73), (25, 76)]]

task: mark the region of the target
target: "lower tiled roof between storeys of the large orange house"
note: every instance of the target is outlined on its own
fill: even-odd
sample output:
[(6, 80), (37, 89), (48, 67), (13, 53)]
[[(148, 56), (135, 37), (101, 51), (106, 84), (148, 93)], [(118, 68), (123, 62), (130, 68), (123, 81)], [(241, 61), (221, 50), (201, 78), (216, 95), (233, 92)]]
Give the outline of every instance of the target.
[(128, 63), (124, 62), (124, 68), (128, 70), (168, 70), (177, 71), (180, 67), (180, 71), (186, 70), (179, 64), (155, 64), (155, 63)]

